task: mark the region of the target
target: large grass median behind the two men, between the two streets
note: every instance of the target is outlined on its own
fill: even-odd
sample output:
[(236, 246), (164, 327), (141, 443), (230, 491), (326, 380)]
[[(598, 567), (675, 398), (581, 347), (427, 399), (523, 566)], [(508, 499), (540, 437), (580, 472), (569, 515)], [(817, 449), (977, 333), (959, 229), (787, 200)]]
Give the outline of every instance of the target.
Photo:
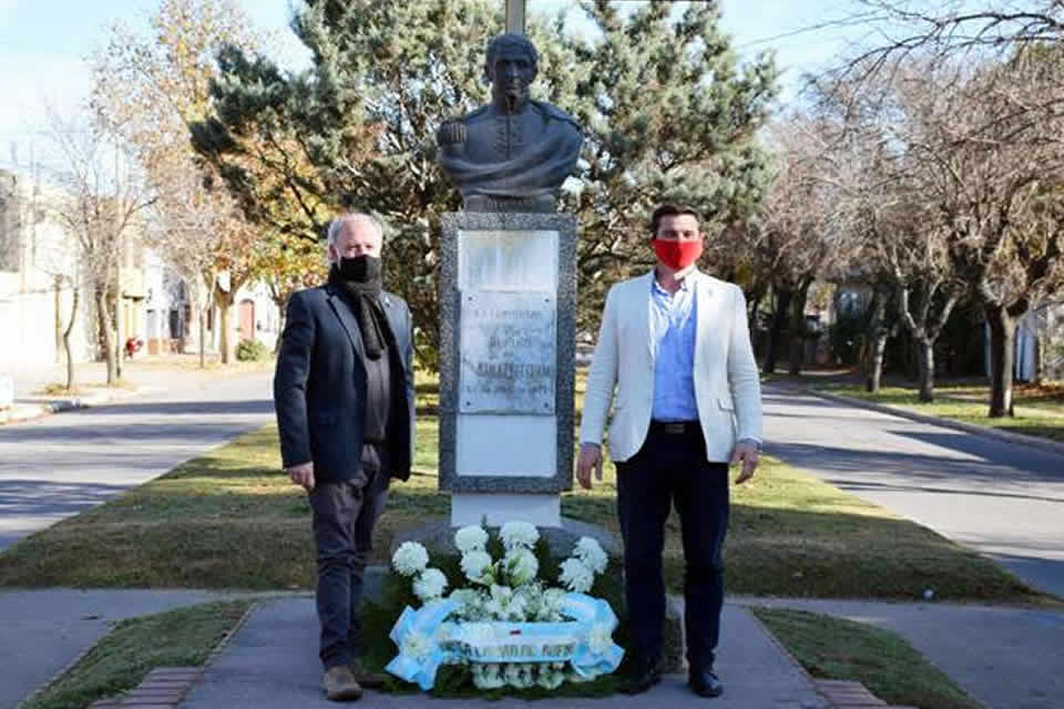
[[(419, 417), (415, 470), (393, 483), (375, 536), (387, 563), (397, 531), (449, 514), (438, 490), (437, 421)], [(612, 465), (562, 513), (617, 533)], [(0, 554), (0, 587), (313, 588), (309, 506), (279, 471), (274, 427), (245, 434)], [(734, 487), (728, 590), (755, 595), (1037, 603), (992, 562), (930, 530), (766, 459)], [(678, 520), (666, 541), (668, 585), (682, 587)]]

